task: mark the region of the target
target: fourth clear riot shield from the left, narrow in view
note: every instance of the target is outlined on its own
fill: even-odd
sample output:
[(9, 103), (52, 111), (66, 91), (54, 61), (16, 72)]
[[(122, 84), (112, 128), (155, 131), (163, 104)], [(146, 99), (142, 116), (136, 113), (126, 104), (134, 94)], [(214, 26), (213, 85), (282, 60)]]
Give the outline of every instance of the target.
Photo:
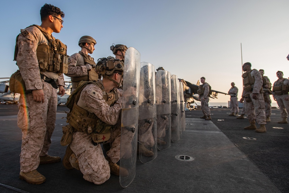
[(176, 75), (171, 76), (171, 139), (173, 142), (180, 139), (180, 100), (179, 80)]

